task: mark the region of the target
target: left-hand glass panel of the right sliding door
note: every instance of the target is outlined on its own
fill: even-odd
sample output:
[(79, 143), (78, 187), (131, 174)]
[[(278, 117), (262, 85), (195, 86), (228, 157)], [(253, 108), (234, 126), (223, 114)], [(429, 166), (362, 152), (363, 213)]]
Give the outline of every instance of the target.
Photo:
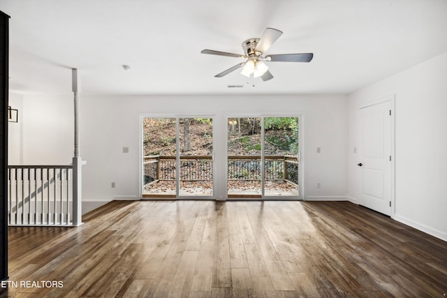
[(261, 198), (261, 118), (228, 118), (228, 198)]

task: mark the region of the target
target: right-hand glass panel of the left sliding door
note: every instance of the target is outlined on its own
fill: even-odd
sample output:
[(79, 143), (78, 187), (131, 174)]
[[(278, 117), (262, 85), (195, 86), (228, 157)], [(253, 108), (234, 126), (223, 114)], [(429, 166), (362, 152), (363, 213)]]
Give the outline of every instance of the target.
[(179, 119), (179, 196), (210, 196), (212, 180), (212, 119)]

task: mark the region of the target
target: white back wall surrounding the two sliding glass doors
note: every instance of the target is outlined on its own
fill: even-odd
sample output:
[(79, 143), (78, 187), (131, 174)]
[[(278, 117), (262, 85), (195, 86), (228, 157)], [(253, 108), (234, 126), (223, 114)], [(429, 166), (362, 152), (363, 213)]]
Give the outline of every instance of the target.
[[(108, 202), (139, 197), (140, 115), (214, 118), (217, 199), (225, 198), (226, 117), (230, 114), (303, 115), (305, 195), (345, 200), (348, 109), (346, 96), (83, 96), (80, 156), (82, 198)], [(73, 96), (25, 96), (24, 163), (71, 163)], [(32, 115), (31, 115), (32, 112)], [(30, 114), (30, 115), (28, 115)], [(52, 115), (52, 116), (50, 116)], [(122, 152), (129, 147), (129, 153)], [(321, 147), (321, 154), (316, 154)], [(223, 169), (223, 170), (220, 170)], [(115, 182), (116, 187), (111, 184)], [(320, 183), (321, 188), (316, 188)]]

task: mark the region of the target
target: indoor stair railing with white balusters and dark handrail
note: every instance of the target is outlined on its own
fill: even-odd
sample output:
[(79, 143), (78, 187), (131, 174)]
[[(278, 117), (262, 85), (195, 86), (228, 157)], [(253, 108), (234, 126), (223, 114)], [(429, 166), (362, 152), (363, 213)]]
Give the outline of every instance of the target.
[(9, 165), (8, 225), (73, 225), (72, 165)]

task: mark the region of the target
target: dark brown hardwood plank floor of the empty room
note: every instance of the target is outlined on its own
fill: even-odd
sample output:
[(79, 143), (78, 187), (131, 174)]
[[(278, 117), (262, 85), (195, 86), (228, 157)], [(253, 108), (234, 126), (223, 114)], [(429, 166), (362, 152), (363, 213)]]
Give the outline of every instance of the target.
[(447, 295), (447, 242), (350, 202), (111, 202), (83, 220), (9, 228), (0, 297)]

